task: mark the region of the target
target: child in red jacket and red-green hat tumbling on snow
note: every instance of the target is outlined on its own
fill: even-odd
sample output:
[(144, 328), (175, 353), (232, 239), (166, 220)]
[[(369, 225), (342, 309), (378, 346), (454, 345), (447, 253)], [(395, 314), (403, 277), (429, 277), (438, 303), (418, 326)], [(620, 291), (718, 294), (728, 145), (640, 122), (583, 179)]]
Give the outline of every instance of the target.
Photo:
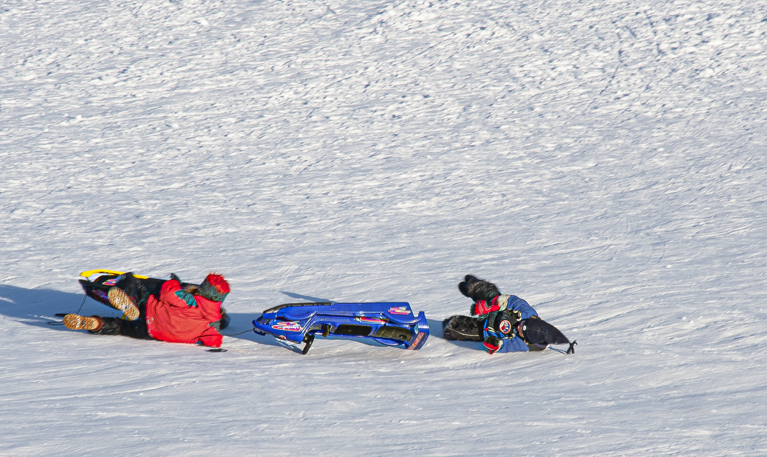
[(109, 290), (110, 305), (123, 312), (121, 318), (64, 316), (64, 325), (98, 335), (125, 335), (173, 343), (204, 344), (219, 348), (219, 330), (229, 324), (221, 308), (229, 293), (223, 276), (210, 273), (199, 286), (181, 286), (175, 274), (163, 283), (158, 295), (146, 291), (131, 273), (117, 278)]

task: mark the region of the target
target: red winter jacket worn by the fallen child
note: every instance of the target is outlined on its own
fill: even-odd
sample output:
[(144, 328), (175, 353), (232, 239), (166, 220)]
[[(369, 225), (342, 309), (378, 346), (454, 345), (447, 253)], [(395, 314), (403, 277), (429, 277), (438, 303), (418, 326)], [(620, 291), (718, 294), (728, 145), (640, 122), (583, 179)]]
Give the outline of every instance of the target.
[(197, 306), (192, 306), (176, 295), (177, 291), (183, 291), (181, 284), (176, 279), (170, 279), (160, 289), (159, 299), (156, 295), (150, 295), (146, 301), (146, 330), (149, 335), (171, 343), (194, 344), (202, 341), (206, 346), (219, 348), (221, 334), (209, 324), (221, 319), (221, 302), (193, 295)]

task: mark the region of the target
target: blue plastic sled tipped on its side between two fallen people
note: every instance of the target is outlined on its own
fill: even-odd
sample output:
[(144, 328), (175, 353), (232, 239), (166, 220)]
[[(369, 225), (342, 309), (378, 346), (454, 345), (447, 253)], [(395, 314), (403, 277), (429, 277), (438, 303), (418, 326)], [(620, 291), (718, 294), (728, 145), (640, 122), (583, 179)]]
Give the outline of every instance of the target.
[(268, 308), (253, 321), (258, 335), (305, 343), (314, 337), (372, 340), (387, 346), (418, 350), (429, 338), (423, 311), (413, 315), (409, 303), (287, 303)]

